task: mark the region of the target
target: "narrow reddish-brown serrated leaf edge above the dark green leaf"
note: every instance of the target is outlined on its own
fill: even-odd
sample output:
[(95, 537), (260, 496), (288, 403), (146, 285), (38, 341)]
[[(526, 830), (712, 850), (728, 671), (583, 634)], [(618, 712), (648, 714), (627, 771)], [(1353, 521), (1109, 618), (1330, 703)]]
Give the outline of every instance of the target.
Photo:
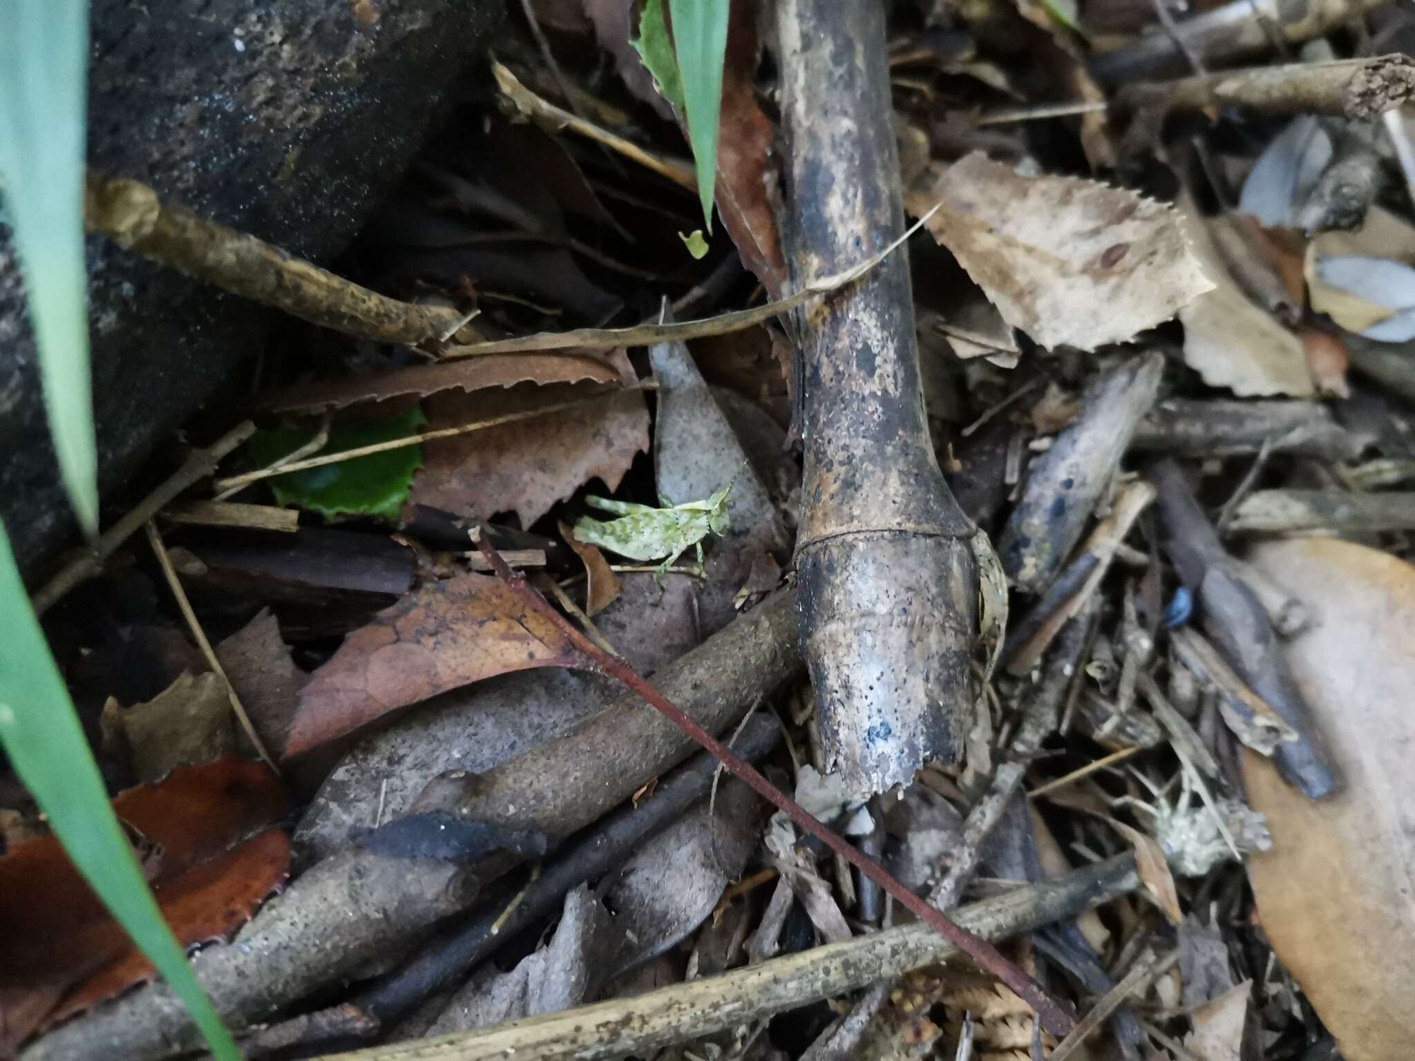
[[(484, 390), (515, 383), (613, 383), (621, 378), (618, 368), (589, 354), (487, 354), (457, 358), (437, 365), (413, 365), (392, 372), (376, 372), (321, 383), (304, 383), (265, 399), (272, 413), (314, 413), (342, 409), (359, 402), (383, 402), (389, 398), (416, 395), (426, 398), (441, 390)], [(440, 424), (453, 426), (453, 424)]]

